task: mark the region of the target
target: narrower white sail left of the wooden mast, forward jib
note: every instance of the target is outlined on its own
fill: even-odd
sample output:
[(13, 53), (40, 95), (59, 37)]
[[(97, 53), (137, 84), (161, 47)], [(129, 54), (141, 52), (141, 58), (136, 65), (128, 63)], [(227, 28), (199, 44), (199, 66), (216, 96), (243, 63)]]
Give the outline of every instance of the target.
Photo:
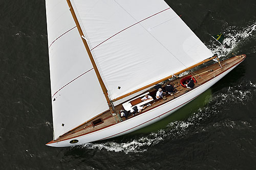
[(46, 12), (56, 139), (108, 105), (67, 2), (47, 0)]

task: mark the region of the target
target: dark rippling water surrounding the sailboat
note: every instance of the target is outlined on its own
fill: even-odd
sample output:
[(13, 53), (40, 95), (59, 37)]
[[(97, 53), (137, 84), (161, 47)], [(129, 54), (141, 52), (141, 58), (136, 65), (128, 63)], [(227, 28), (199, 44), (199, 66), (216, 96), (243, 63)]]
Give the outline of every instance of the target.
[[(45, 1), (0, 1), (0, 169), (255, 169), (256, 2), (166, 2), (212, 52), (245, 61), (162, 126), (50, 148)], [(209, 36), (220, 32), (229, 48)]]

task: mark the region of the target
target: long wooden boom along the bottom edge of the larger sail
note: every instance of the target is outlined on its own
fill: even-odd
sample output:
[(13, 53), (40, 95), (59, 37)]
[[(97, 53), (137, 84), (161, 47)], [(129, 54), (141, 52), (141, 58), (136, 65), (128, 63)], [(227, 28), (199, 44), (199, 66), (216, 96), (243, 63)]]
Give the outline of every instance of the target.
[[(212, 59), (215, 59), (216, 57), (217, 57), (217, 56), (214, 56), (214, 57), (208, 58), (208, 59), (206, 59), (206, 60), (203, 60), (203, 61), (201, 61), (201, 62), (199, 62), (199, 63), (197, 63), (197, 64), (195, 64), (195, 65), (192, 65), (192, 66), (190, 66), (190, 67), (187, 67), (187, 68), (185, 68), (185, 69), (183, 69), (183, 70), (181, 70), (181, 71), (179, 71), (179, 72), (176, 72), (176, 73), (173, 74), (173, 75), (174, 75), (174, 76), (178, 76), (178, 75), (181, 74), (182, 72), (185, 72), (185, 71), (187, 71), (187, 70), (189, 70), (189, 69), (191, 69), (191, 68), (194, 68), (194, 67), (196, 67), (196, 66), (198, 66), (198, 65), (201, 65), (201, 64), (203, 64), (203, 63), (205, 63), (205, 62), (207, 62), (207, 61), (210, 61), (210, 60), (212, 60)], [(132, 94), (134, 94), (134, 93), (137, 93), (137, 92), (139, 92), (139, 91), (141, 91), (141, 90), (144, 90), (144, 89), (146, 89), (146, 88), (148, 88), (148, 87), (154, 86), (154, 85), (156, 85), (156, 84), (158, 84), (158, 83), (161, 83), (161, 82), (164, 81), (164, 80), (167, 80), (167, 79), (169, 79), (169, 78), (172, 78), (173, 75), (170, 75), (170, 76), (165, 77), (165, 78), (163, 78), (163, 79), (161, 79), (161, 80), (158, 80), (158, 81), (156, 81), (156, 82), (154, 82), (154, 83), (148, 84), (148, 85), (146, 85), (146, 86), (144, 86), (144, 87), (141, 87), (141, 88), (139, 88), (139, 89), (137, 89), (137, 90), (134, 90), (134, 91), (132, 91), (132, 92), (129, 92), (129, 93), (127, 93), (127, 94), (124, 94), (124, 95), (122, 95), (122, 96), (120, 96), (120, 97), (118, 97), (118, 98), (116, 98), (116, 99), (113, 99), (113, 102), (118, 101), (118, 100), (120, 100), (120, 99), (123, 99), (123, 98), (125, 98), (125, 97), (127, 97), (127, 96), (129, 96), (129, 95), (132, 95)]]

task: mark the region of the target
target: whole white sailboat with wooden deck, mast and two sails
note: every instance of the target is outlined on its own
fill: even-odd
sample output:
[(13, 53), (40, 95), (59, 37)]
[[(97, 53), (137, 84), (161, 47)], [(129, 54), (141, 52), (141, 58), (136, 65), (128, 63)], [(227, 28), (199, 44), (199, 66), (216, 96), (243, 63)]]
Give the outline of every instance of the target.
[[(124, 135), (172, 114), (239, 65), (221, 61), (163, 0), (46, 0), (51, 147)], [(208, 65), (207, 63), (214, 61)], [(193, 88), (184, 86), (195, 80)], [(166, 81), (177, 92), (156, 99)], [(154, 99), (141, 101), (145, 94)], [(147, 106), (121, 117), (120, 110)]]

